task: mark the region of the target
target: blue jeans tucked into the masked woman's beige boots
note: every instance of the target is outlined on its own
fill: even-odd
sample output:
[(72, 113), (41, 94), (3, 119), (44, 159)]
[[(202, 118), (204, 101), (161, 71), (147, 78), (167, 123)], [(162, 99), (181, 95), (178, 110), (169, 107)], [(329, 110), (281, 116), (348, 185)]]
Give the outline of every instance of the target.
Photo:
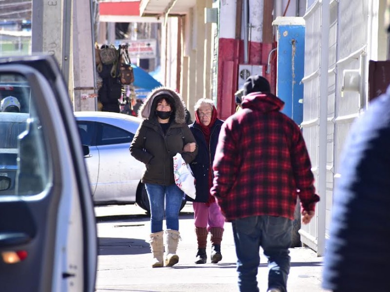
[(176, 184), (161, 185), (155, 183), (145, 183), (150, 203), (150, 224), (151, 232), (162, 230), (162, 220), (164, 219), (164, 199), (165, 217), (167, 229), (179, 230), (179, 212), (183, 202), (183, 192)]

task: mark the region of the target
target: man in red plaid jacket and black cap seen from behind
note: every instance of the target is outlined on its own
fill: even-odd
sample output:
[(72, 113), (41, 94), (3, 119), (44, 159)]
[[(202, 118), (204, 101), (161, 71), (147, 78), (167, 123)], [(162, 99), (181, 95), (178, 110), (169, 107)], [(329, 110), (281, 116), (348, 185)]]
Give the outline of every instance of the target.
[(233, 225), (241, 292), (259, 291), (259, 246), (269, 262), (268, 291), (287, 291), (297, 196), (304, 224), (319, 201), (301, 130), (270, 91), (262, 76), (245, 81), (243, 110), (222, 125), (213, 164), (211, 192)]

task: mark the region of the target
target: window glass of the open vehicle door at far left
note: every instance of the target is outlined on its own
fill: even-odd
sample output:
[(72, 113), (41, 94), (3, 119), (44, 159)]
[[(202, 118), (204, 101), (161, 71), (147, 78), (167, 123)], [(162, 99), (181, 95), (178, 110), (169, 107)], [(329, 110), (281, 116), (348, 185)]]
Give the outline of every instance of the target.
[(3, 195), (35, 195), (48, 185), (44, 126), (26, 78), (0, 74), (0, 176), (11, 180)]

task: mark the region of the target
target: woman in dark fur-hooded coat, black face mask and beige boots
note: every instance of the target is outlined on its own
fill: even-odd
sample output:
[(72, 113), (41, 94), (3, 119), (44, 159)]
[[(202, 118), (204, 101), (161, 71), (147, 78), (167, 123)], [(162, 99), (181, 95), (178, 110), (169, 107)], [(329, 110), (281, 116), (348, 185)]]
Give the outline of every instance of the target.
[(185, 123), (184, 109), (178, 93), (165, 87), (156, 88), (139, 109), (143, 121), (130, 146), (131, 155), (146, 165), (141, 182), (145, 183), (150, 202), (153, 268), (163, 267), (164, 262), (165, 266), (173, 266), (179, 261), (176, 255), (180, 239), (178, 215), (184, 194), (175, 184), (173, 157), (181, 153), (185, 162), (190, 163), (197, 153), (195, 138)]

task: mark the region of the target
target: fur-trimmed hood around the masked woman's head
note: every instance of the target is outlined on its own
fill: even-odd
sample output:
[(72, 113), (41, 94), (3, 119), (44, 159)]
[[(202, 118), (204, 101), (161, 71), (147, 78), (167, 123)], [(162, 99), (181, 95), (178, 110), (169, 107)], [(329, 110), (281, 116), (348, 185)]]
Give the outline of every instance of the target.
[[(153, 103), (155, 97), (160, 94), (171, 96), (175, 102), (175, 122), (177, 124), (185, 123), (185, 105), (181, 96), (176, 91), (168, 87), (157, 87), (149, 93), (143, 105), (138, 110), (138, 116), (142, 119), (150, 119), (156, 116), (156, 104)], [(153, 107), (153, 108), (152, 108)]]

